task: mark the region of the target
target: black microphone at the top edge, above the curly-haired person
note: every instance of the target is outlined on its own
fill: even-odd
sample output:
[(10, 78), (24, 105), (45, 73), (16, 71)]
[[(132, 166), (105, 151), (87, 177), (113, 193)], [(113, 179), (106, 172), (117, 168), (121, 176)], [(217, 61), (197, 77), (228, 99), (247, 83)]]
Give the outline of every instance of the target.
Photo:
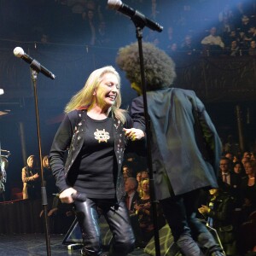
[(111, 9), (116, 9), (122, 14), (129, 16), (131, 20), (137, 20), (139, 22), (143, 21), (143, 25), (148, 26), (152, 30), (155, 30), (157, 32), (162, 32), (163, 30), (163, 26), (160, 26), (160, 24), (153, 20), (149, 20), (139, 11), (132, 9), (125, 3), (122, 3), (121, 0), (108, 0), (108, 6)]

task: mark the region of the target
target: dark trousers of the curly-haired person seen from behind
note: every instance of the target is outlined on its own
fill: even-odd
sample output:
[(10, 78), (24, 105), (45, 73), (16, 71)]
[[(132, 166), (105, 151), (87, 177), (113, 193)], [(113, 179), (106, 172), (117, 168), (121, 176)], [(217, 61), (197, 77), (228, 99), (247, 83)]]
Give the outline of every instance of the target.
[(200, 190), (176, 195), (160, 201), (174, 241), (183, 255), (198, 256), (222, 251), (205, 224), (196, 218)]

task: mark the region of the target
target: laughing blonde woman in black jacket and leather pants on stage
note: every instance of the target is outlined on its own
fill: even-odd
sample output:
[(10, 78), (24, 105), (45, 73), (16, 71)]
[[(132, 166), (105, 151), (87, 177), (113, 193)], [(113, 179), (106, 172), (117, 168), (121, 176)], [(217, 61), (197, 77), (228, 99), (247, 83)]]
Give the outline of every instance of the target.
[[(125, 256), (134, 247), (122, 163), (126, 146), (142, 139), (144, 133), (132, 128), (131, 117), (120, 105), (119, 73), (111, 66), (96, 69), (67, 103), (49, 154), (60, 199), (74, 204), (83, 234), (83, 255), (102, 253), (99, 213), (113, 233), (108, 255)], [(78, 193), (86, 195), (86, 201), (73, 200)]]

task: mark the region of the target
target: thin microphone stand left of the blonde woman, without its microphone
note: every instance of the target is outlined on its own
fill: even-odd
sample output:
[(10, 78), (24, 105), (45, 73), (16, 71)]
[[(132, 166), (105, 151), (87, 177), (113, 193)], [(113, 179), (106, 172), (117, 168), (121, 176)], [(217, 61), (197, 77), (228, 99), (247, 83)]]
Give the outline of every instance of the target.
[[(32, 61), (33, 63), (34, 61)], [(37, 132), (38, 132), (38, 151), (39, 151), (39, 159), (40, 159), (40, 171), (41, 171), (41, 195), (42, 195), (42, 206), (44, 208), (44, 224), (45, 224), (45, 239), (46, 239), (46, 248), (47, 255), (50, 256), (50, 243), (49, 243), (49, 219), (47, 215), (47, 194), (44, 184), (44, 171), (43, 171), (43, 162), (42, 162), (42, 149), (41, 149), (41, 136), (40, 136), (40, 125), (39, 125), (39, 113), (38, 113), (38, 93), (37, 93), (37, 80), (38, 80), (38, 62), (35, 61), (33, 66), (31, 65), (31, 75), (32, 75), (32, 84), (34, 90), (34, 100), (35, 100), (35, 108), (36, 108), (36, 119), (37, 119)], [(35, 70), (34, 68), (38, 69)]]

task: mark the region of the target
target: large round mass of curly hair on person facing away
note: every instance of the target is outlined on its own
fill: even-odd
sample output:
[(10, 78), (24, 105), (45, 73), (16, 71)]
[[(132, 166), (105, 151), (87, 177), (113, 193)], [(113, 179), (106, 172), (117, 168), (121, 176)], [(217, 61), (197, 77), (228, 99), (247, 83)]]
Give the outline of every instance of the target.
[[(170, 87), (176, 78), (175, 63), (163, 50), (154, 44), (143, 43), (143, 59), (147, 90), (158, 90)], [(140, 59), (137, 43), (119, 49), (116, 63), (125, 71), (126, 78), (142, 87)]]

